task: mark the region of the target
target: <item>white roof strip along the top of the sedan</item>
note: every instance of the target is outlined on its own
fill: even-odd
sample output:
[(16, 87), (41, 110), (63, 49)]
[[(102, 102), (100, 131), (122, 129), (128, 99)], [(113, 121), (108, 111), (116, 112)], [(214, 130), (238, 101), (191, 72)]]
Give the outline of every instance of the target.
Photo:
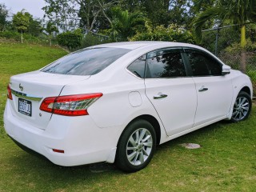
[(202, 48), (199, 46), (194, 46), (188, 43), (182, 42), (154, 42), (154, 41), (145, 41), (145, 42), (112, 42), (101, 44), (98, 46), (91, 46), (90, 48), (99, 48), (99, 47), (114, 47), (114, 48), (122, 48), (122, 49), (129, 49), (129, 50), (136, 50), (140, 47), (146, 46), (187, 46), (187, 47), (194, 47), (194, 48)]

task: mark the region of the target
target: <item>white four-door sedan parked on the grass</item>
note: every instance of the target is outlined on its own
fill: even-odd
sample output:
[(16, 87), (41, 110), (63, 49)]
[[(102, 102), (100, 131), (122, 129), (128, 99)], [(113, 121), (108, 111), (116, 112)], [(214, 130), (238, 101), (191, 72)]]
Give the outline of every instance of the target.
[(248, 117), (250, 78), (178, 42), (118, 42), (78, 50), (10, 78), (6, 133), (61, 166), (144, 168), (155, 146), (222, 119)]

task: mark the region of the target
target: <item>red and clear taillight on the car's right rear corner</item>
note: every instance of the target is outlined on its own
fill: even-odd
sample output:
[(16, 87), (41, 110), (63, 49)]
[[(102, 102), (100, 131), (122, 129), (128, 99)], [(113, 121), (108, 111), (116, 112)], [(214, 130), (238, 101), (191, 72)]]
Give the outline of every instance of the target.
[(102, 93), (75, 94), (45, 98), (42, 101), (40, 110), (66, 116), (87, 115), (88, 107), (93, 104), (98, 98), (102, 97), (102, 95)]

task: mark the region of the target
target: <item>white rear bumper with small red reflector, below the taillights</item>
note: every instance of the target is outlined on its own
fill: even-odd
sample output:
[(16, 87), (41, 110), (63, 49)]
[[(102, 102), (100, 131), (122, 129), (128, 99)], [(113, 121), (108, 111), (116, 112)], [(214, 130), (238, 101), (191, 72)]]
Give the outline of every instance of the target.
[[(53, 115), (46, 130), (40, 130), (15, 117), (7, 101), (4, 126), (10, 138), (60, 166), (114, 162), (118, 127), (98, 128), (89, 115)], [(53, 149), (64, 150), (64, 154)]]

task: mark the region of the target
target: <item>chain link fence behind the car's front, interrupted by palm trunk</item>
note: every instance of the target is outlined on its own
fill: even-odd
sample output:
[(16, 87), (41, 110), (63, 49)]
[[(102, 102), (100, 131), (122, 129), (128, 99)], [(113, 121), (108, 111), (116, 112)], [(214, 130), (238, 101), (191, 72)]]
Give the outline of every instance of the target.
[[(246, 25), (246, 71), (254, 86), (256, 96), (256, 25)], [(239, 26), (223, 26), (202, 31), (201, 46), (210, 50), (235, 70), (242, 70)]]

